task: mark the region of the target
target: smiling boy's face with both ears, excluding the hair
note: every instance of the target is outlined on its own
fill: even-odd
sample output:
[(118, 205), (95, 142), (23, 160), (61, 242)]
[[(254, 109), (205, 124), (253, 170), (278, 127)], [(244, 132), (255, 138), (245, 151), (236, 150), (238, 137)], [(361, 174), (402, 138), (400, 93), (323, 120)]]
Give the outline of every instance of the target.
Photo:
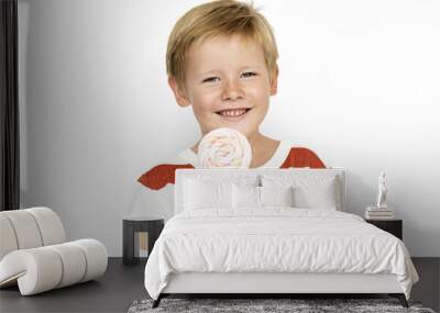
[(193, 45), (187, 54), (185, 90), (168, 79), (177, 103), (193, 105), (202, 134), (231, 127), (250, 137), (267, 113), (276, 93), (263, 48), (240, 35), (217, 36)]

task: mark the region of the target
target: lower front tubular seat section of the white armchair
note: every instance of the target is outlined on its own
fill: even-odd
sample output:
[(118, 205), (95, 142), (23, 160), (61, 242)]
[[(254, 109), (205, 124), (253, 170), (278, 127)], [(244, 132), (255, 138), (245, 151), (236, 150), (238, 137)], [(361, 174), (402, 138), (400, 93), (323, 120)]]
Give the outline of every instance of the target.
[(0, 287), (18, 281), (22, 295), (95, 279), (106, 272), (106, 247), (95, 239), (9, 253), (0, 261)]

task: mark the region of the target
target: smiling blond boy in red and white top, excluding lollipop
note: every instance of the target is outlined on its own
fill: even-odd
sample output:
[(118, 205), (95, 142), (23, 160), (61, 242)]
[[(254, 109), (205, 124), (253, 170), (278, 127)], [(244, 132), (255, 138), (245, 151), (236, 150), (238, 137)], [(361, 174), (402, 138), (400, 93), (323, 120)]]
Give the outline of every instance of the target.
[[(324, 168), (310, 149), (260, 132), (270, 98), (277, 92), (277, 57), (271, 25), (251, 4), (208, 2), (184, 14), (169, 35), (168, 85), (178, 105), (193, 108), (202, 136), (219, 127), (246, 136), (251, 168)], [(132, 212), (173, 216), (175, 170), (198, 166), (197, 146), (139, 178)]]

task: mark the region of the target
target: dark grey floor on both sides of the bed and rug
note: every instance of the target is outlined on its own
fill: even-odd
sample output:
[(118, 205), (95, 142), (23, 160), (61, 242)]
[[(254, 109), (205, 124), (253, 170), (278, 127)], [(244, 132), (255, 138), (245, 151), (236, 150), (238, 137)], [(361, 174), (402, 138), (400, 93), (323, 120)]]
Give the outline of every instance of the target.
[[(420, 281), (411, 299), (439, 311), (440, 258), (413, 258)], [(0, 290), (0, 312), (127, 312), (136, 299), (147, 298), (143, 284), (144, 264), (128, 267), (110, 258), (103, 277), (50, 292), (21, 297), (18, 288)]]

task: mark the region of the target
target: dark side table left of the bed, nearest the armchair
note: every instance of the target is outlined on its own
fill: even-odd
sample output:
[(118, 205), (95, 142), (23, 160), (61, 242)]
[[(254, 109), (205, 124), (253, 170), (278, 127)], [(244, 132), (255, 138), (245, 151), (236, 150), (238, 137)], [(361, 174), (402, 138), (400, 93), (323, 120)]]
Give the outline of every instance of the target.
[(148, 216), (127, 216), (122, 221), (122, 264), (135, 265), (139, 262), (139, 241), (136, 233), (148, 233), (148, 256), (154, 243), (164, 228), (164, 219)]

